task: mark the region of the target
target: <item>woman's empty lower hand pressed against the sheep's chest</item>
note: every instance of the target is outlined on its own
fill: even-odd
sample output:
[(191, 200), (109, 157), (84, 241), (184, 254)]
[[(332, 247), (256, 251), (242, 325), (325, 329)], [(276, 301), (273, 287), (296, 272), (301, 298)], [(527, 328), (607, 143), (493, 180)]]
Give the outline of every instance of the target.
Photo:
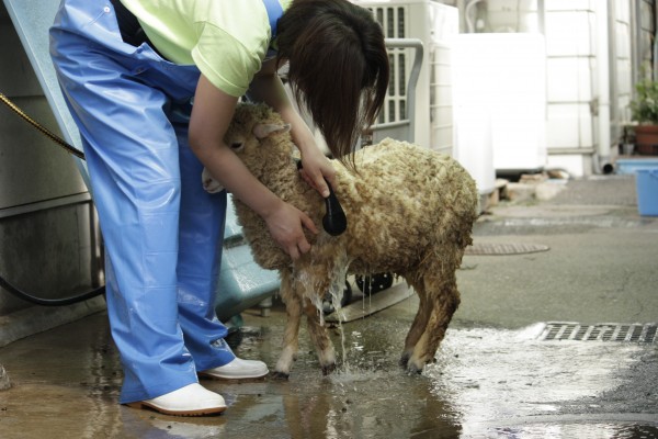
[(272, 238), (293, 260), (310, 250), (304, 227), (314, 234), (317, 234), (318, 229), (304, 212), (282, 201), (264, 219)]

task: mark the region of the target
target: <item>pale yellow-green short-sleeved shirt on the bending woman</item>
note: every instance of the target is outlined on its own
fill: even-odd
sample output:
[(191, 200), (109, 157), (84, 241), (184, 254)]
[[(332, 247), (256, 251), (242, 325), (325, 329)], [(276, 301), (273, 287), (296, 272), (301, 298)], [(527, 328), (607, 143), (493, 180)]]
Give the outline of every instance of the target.
[[(224, 92), (240, 97), (260, 70), (271, 30), (262, 0), (121, 0), (167, 59), (194, 64)], [(292, 0), (279, 0), (285, 10)]]

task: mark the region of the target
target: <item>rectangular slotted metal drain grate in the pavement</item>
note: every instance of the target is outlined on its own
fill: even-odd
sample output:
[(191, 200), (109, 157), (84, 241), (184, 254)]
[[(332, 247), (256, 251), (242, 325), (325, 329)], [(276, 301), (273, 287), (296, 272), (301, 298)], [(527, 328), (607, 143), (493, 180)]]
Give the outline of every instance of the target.
[(540, 340), (579, 340), (579, 341), (626, 341), (653, 344), (657, 341), (658, 324), (617, 324), (580, 325), (569, 322), (549, 322), (540, 335)]

